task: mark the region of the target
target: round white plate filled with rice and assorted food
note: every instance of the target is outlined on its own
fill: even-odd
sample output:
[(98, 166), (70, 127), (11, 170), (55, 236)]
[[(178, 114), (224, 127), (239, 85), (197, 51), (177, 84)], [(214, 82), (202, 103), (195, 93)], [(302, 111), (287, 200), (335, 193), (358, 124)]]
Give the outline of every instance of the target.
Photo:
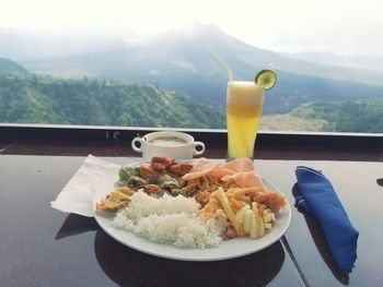
[(286, 196), (253, 160), (207, 158), (120, 167), (95, 186), (94, 217), (120, 243), (155, 256), (218, 261), (247, 255), (288, 229)]

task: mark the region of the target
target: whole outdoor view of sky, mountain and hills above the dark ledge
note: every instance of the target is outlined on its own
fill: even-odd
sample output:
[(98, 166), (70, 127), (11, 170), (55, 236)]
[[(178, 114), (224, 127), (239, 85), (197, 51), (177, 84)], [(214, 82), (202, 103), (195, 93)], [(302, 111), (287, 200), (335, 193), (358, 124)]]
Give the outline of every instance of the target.
[(383, 2), (13, 0), (0, 122), (225, 129), (228, 73), (276, 71), (262, 130), (383, 132)]

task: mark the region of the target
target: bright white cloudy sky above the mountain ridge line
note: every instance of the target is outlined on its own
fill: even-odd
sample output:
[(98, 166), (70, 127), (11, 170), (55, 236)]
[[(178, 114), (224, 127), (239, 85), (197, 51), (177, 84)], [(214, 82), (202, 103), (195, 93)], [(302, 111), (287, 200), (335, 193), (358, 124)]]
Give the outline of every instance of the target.
[(152, 37), (214, 23), (276, 51), (383, 55), (381, 0), (0, 0), (0, 27)]

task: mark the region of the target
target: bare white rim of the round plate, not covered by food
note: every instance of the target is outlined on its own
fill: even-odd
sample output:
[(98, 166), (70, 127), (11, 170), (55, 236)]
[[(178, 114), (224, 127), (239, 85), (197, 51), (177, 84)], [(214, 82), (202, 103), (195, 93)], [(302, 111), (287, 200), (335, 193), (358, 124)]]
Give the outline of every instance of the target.
[[(198, 249), (198, 248), (177, 248), (172, 244), (164, 244), (150, 241), (147, 238), (136, 236), (126, 230), (119, 230), (112, 226), (112, 217), (101, 216), (95, 212), (95, 203), (103, 199), (113, 190), (116, 177), (111, 177), (97, 183), (96, 193), (93, 199), (94, 218), (102, 229), (111, 237), (120, 243), (141, 251), (143, 253), (152, 254), (160, 258), (183, 260), (183, 261), (218, 261), (232, 258), (239, 258), (257, 252), (262, 249), (276, 242), (287, 230), (291, 220), (291, 210), (289, 202), (286, 201), (286, 206), (277, 216), (270, 231), (266, 232), (260, 239), (235, 238), (223, 241), (222, 244), (213, 248)], [(267, 180), (264, 180), (268, 190), (279, 191)], [(111, 188), (112, 187), (112, 188)], [(282, 193), (281, 193), (282, 194)], [(282, 194), (283, 195), (283, 194)]]

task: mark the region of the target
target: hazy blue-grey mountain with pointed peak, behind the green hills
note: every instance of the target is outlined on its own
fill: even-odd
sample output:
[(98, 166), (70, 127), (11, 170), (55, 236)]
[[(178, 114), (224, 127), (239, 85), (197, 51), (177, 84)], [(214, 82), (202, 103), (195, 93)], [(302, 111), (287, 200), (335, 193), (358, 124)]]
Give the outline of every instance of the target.
[[(97, 40), (103, 43), (102, 38)], [(304, 103), (315, 100), (383, 97), (382, 71), (286, 57), (249, 46), (213, 24), (195, 23), (188, 29), (173, 31), (139, 43), (108, 39), (96, 45), (97, 40), (81, 46), (78, 53), (76, 45), (85, 44), (86, 39), (79, 44), (61, 43), (61, 46), (56, 41), (55, 47), (61, 47), (57, 57), (54, 57), (53, 47), (47, 59), (24, 58), (20, 63), (35, 73), (152, 83), (162, 89), (182, 92), (223, 110), (228, 75), (210, 57), (209, 51), (214, 51), (232, 65), (236, 80), (253, 80), (264, 68), (277, 71), (278, 84), (267, 92), (265, 113), (289, 112)], [(30, 48), (33, 49), (33, 45)], [(63, 49), (68, 51), (65, 57), (59, 53)], [(0, 48), (0, 52), (3, 50)]]

